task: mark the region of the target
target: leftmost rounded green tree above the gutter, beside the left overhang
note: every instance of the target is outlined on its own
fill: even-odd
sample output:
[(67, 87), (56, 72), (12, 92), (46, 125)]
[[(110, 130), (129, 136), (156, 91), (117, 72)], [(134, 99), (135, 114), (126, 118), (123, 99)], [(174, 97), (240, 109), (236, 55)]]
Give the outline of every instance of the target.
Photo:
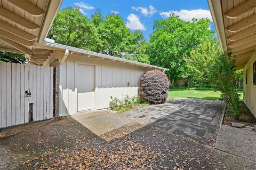
[(58, 12), (47, 37), (56, 43), (85, 50), (94, 50), (101, 45), (94, 23), (73, 7)]

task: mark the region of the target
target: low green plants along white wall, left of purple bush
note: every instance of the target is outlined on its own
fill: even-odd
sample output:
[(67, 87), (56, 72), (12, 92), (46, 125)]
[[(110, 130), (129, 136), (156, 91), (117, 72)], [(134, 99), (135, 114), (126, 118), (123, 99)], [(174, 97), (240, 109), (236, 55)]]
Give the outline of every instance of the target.
[(118, 99), (116, 97), (110, 96), (111, 100), (109, 101), (109, 106), (112, 110), (116, 112), (124, 112), (128, 111), (132, 108), (147, 106), (148, 103), (142, 102), (140, 100), (140, 96), (134, 95), (122, 95), (122, 99)]

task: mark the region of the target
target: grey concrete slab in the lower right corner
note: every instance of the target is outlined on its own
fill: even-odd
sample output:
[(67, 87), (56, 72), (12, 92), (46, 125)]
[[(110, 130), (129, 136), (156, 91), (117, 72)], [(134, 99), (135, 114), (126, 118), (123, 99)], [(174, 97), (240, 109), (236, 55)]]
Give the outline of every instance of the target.
[(221, 125), (215, 148), (256, 160), (256, 132)]

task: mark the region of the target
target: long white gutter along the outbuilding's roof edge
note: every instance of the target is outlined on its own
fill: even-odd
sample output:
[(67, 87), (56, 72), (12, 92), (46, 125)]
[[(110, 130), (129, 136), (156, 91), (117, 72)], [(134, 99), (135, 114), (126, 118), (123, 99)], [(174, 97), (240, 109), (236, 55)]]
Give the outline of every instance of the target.
[(155, 68), (155, 69), (159, 69), (159, 70), (169, 70), (169, 69), (166, 69), (166, 68), (163, 68), (163, 67), (157, 67), (157, 66), (153, 66), (153, 65), (138, 62), (138, 61), (122, 59), (122, 58), (118, 58), (116, 56), (96, 53), (96, 52), (87, 51), (87, 50), (83, 50), (83, 49), (76, 48), (76, 47), (71, 47), (71, 46), (67, 46), (67, 45), (54, 43), (52, 39), (48, 39), (48, 38), (45, 39), (43, 45), (48, 46), (48, 47), (59, 48), (61, 50), (65, 50), (65, 51), (68, 50), (68, 51), (87, 54), (87, 55), (91, 55), (91, 56), (99, 56), (100, 58), (103, 58), (103, 59), (110, 59), (110, 60), (113, 60), (113, 61), (115, 60), (115, 61), (121, 61), (121, 62), (124, 62), (124, 63), (131, 63), (131, 64), (135, 64), (135, 65), (141, 66), (141, 67)]

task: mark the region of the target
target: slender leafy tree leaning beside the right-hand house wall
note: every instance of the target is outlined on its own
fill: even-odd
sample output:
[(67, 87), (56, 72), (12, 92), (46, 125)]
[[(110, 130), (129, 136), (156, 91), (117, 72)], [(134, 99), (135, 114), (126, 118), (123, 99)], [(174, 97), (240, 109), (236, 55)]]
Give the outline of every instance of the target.
[(217, 39), (201, 42), (190, 55), (188, 67), (194, 81), (210, 84), (214, 90), (221, 91), (221, 97), (227, 103), (230, 114), (237, 118), (239, 94), (236, 91), (235, 60), (230, 60), (228, 54), (222, 53)]

